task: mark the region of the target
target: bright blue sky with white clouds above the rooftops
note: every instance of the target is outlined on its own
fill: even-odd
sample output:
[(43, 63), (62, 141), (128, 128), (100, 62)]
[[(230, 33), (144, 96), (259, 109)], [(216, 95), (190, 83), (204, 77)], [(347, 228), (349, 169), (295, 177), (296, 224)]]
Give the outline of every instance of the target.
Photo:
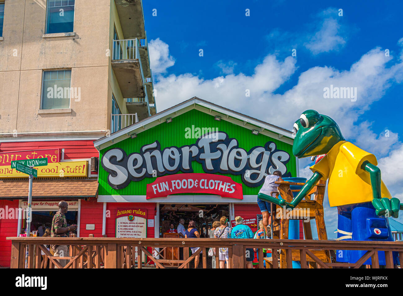
[[(316, 109), (376, 155), (403, 200), (403, 2), (171, 0), (143, 9), (157, 111), (197, 96), (291, 130)], [(325, 99), (331, 84), (357, 87), (356, 100)], [(310, 164), (300, 160), (302, 175)], [(325, 203), (334, 237), (337, 211)]]

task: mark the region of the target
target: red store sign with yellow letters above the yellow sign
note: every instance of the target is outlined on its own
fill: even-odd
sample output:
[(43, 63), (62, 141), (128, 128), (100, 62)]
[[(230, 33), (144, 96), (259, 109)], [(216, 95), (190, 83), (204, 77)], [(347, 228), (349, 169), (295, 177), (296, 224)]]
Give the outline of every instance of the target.
[(11, 166), (11, 161), (33, 158), (48, 158), (48, 162), (60, 162), (60, 149), (36, 149), (0, 153), (0, 166)]

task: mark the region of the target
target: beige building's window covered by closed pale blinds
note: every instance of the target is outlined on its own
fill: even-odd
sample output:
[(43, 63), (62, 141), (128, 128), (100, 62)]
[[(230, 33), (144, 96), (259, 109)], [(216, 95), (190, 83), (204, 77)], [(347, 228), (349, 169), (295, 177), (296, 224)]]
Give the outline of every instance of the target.
[(70, 108), (71, 70), (44, 71), (41, 109)]

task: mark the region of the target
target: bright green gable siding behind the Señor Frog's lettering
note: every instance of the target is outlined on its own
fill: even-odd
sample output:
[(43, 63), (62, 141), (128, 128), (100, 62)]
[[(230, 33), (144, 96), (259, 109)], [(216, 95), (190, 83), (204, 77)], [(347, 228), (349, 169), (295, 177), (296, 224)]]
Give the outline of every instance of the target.
[[(205, 130), (202, 130), (204, 128)], [(184, 145), (195, 145), (197, 138), (200, 137), (200, 133), (203, 131), (220, 131), (226, 133), (229, 139), (236, 139), (238, 145), (237, 147), (244, 149), (246, 152), (250, 151), (254, 147), (265, 147), (269, 142), (275, 144), (275, 151), (284, 151), (288, 153), (289, 160), (285, 162), (286, 176), (295, 177), (297, 174), (296, 159), (292, 153), (292, 145), (287, 144), (279, 139), (274, 139), (261, 133), (258, 135), (253, 135), (251, 130), (243, 126), (226, 121), (222, 118), (220, 121), (214, 120), (214, 116), (207, 114), (205, 112), (192, 109), (187, 111), (172, 119), (172, 122), (166, 123), (161, 121), (160, 124), (144, 130), (137, 134), (134, 139), (127, 138), (123, 141), (113, 143), (107, 148), (100, 150), (100, 170), (99, 170), (99, 195), (145, 195), (147, 184), (152, 183), (156, 180), (156, 176), (143, 176), (143, 178), (137, 178), (135, 181), (129, 181), (125, 184), (123, 188), (112, 188), (108, 184), (108, 172), (105, 167), (105, 163), (102, 163), (102, 159), (107, 151), (111, 149), (119, 149), (122, 151), (123, 155), (127, 158), (127, 155), (131, 153), (141, 152), (141, 148), (145, 145), (153, 144), (158, 141), (160, 147), (158, 149), (162, 150), (167, 147), (182, 147)], [(204, 132), (203, 132), (204, 133)], [(190, 135), (190, 137), (189, 137)], [(267, 146), (267, 145), (266, 145)], [(269, 150), (266, 147), (266, 150)], [(150, 150), (151, 151), (151, 150)], [(190, 155), (190, 154), (189, 154)], [(248, 157), (249, 158), (249, 157)], [(115, 164), (119, 164), (116, 161), (116, 157), (108, 158)], [(215, 163), (215, 165), (217, 165)], [(272, 164), (272, 160), (269, 160), (266, 170)], [(275, 167), (275, 166), (274, 166)], [(194, 173), (206, 173), (204, 170), (204, 164), (197, 161), (191, 161), (192, 172)], [(180, 174), (183, 171), (179, 170), (175, 173)], [(235, 182), (242, 184), (243, 195), (257, 195), (260, 190), (261, 184), (259, 186), (251, 186), (244, 180), (245, 174), (232, 174), (232, 173), (220, 173), (215, 172), (215, 174), (220, 174), (224, 176), (231, 177)], [(112, 175), (116, 175), (112, 172)], [(158, 175), (162, 176), (162, 175)]]

